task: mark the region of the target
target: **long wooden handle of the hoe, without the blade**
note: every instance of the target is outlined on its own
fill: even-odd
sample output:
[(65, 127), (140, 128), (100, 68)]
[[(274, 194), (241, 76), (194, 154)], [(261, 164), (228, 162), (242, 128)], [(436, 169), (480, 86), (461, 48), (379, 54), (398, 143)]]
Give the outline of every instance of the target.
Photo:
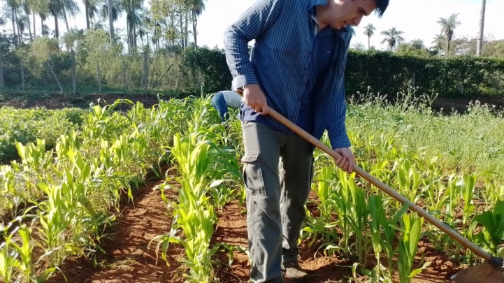
[[(289, 121), (289, 119), (283, 117), (280, 115), (280, 113), (276, 112), (275, 110), (269, 108), (268, 109), (268, 115), (271, 117), (277, 119), (279, 122), (287, 126), (287, 128), (291, 129), (295, 133), (297, 133), (299, 136), (305, 138), (308, 140), (308, 142), (312, 143), (312, 145), (315, 145), (318, 147), (320, 150), (326, 152), (326, 154), (329, 154), (331, 157), (334, 159), (338, 159), (340, 157), (340, 154), (338, 154), (336, 151), (332, 150), (330, 147), (322, 143), (320, 140), (315, 138), (314, 136), (310, 135), (310, 133), (304, 131), (301, 129), (299, 126), (294, 124), (293, 122)], [(395, 198), (397, 201), (400, 203), (408, 203), (410, 205), (410, 210), (413, 210), (417, 212), (419, 215), (422, 215), (424, 219), (426, 219), (428, 222), (433, 224), (434, 226), (440, 228), (441, 231), (447, 233), (450, 237), (452, 237), (454, 240), (457, 242), (460, 242), (461, 245), (464, 247), (470, 249), (471, 251), (475, 252), (475, 254), (481, 256), (485, 261), (489, 262), (492, 266), (501, 268), (503, 266), (503, 259), (502, 258), (496, 258), (495, 256), (492, 256), (491, 254), (485, 252), (483, 249), (480, 247), (477, 247), (477, 245), (473, 244), (473, 242), (470, 242), (466, 238), (463, 238), (462, 235), (460, 235), (458, 232), (452, 230), (452, 228), (449, 228), (442, 222), (440, 222), (438, 219), (430, 215), (428, 212), (425, 210), (422, 210), (422, 208), (419, 208), (415, 203), (412, 203), (408, 198), (405, 198), (401, 194), (399, 194), (397, 191), (394, 191), (390, 187), (388, 187), (386, 184), (383, 182), (380, 182), (380, 180), (377, 180), (373, 175), (370, 175), (367, 173), (365, 170), (362, 170), (359, 168), (359, 166), (354, 166), (354, 171), (364, 179), (368, 180), (371, 184), (374, 184), (378, 189), (381, 189), (385, 193), (387, 193), (389, 196)]]

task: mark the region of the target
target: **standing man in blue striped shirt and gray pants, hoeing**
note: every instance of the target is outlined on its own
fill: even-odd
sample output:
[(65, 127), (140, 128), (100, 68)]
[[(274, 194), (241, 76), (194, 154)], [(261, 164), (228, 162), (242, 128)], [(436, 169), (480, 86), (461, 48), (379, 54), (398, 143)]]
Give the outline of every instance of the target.
[(343, 82), (350, 26), (373, 10), (381, 17), (387, 6), (388, 0), (258, 0), (225, 31), (231, 89), (244, 98), (238, 117), (254, 283), (283, 282), (282, 270), (295, 282), (309, 282), (298, 265), (296, 241), (315, 148), (268, 116), (268, 109), (315, 138), (327, 130), (342, 156), (336, 165), (352, 173)]

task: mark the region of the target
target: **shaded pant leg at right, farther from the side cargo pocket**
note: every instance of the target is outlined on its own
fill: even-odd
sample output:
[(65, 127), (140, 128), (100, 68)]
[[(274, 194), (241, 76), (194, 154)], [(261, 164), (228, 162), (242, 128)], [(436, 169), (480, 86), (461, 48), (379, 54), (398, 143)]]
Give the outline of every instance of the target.
[(304, 138), (287, 138), (280, 158), (280, 211), (282, 213), (282, 261), (297, 261), (298, 238), (305, 219), (305, 202), (310, 194), (315, 147)]

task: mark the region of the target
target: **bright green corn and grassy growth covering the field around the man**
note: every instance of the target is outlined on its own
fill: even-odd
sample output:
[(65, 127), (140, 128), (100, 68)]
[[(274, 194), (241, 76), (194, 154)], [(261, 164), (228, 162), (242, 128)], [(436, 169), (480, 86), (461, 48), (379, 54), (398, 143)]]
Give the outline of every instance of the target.
[[(357, 165), (486, 251), (503, 256), (504, 131), (498, 131), (504, 129), (503, 114), (475, 105), (467, 115), (442, 117), (410, 99), (405, 96), (402, 106), (401, 101), (398, 106), (377, 100), (350, 103), (348, 132)], [(120, 103), (131, 109), (116, 111)], [(488, 126), (489, 119), (491, 127), (477, 128), (484, 137), (470, 138), (468, 125), (480, 121)], [(238, 119), (221, 124), (208, 96), (192, 96), (160, 99), (152, 108), (127, 99), (90, 106), (78, 125), (64, 125), (50, 150), (41, 138), (15, 141), (20, 159), (0, 166), (2, 282), (47, 282), (69, 256), (103, 252), (102, 237), (120, 217), (121, 200), (136, 201), (132, 192), (150, 172), (163, 180), (154, 190), (173, 224), (145, 245), (167, 265), (170, 250), (183, 247), (180, 263), (187, 282), (226, 282), (217, 276), (226, 266), (217, 264), (215, 256), (226, 254), (229, 266), (236, 252), (247, 254), (246, 246), (212, 240), (219, 210), (231, 201), (245, 210)], [(420, 125), (429, 131), (438, 125), (454, 138), (447, 143), (454, 147), (431, 142)], [(467, 146), (493, 150), (459, 146), (459, 127)], [(416, 139), (412, 131), (417, 131)], [(329, 145), (326, 134), (322, 142)], [(162, 172), (163, 167), (168, 170)], [(171, 189), (177, 198), (166, 197)], [(457, 265), (481, 263), (408, 207), (334, 166), (319, 150), (312, 194), (299, 242), (315, 250), (313, 256), (348, 259), (349, 281), (414, 282), (431, 265), (420, 241)]]

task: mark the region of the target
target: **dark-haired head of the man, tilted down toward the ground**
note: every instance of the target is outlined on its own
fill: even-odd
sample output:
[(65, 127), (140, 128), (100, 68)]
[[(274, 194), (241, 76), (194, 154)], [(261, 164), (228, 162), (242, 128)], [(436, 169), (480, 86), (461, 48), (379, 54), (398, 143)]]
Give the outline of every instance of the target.
[(327, 0), (326, 6), (317, 6), (317, 18), (321, 24), (342, 29), (347, 25), (357, 26), (362, 17), (373, 11), (382, 17), (387, 6), (389, 0)]

